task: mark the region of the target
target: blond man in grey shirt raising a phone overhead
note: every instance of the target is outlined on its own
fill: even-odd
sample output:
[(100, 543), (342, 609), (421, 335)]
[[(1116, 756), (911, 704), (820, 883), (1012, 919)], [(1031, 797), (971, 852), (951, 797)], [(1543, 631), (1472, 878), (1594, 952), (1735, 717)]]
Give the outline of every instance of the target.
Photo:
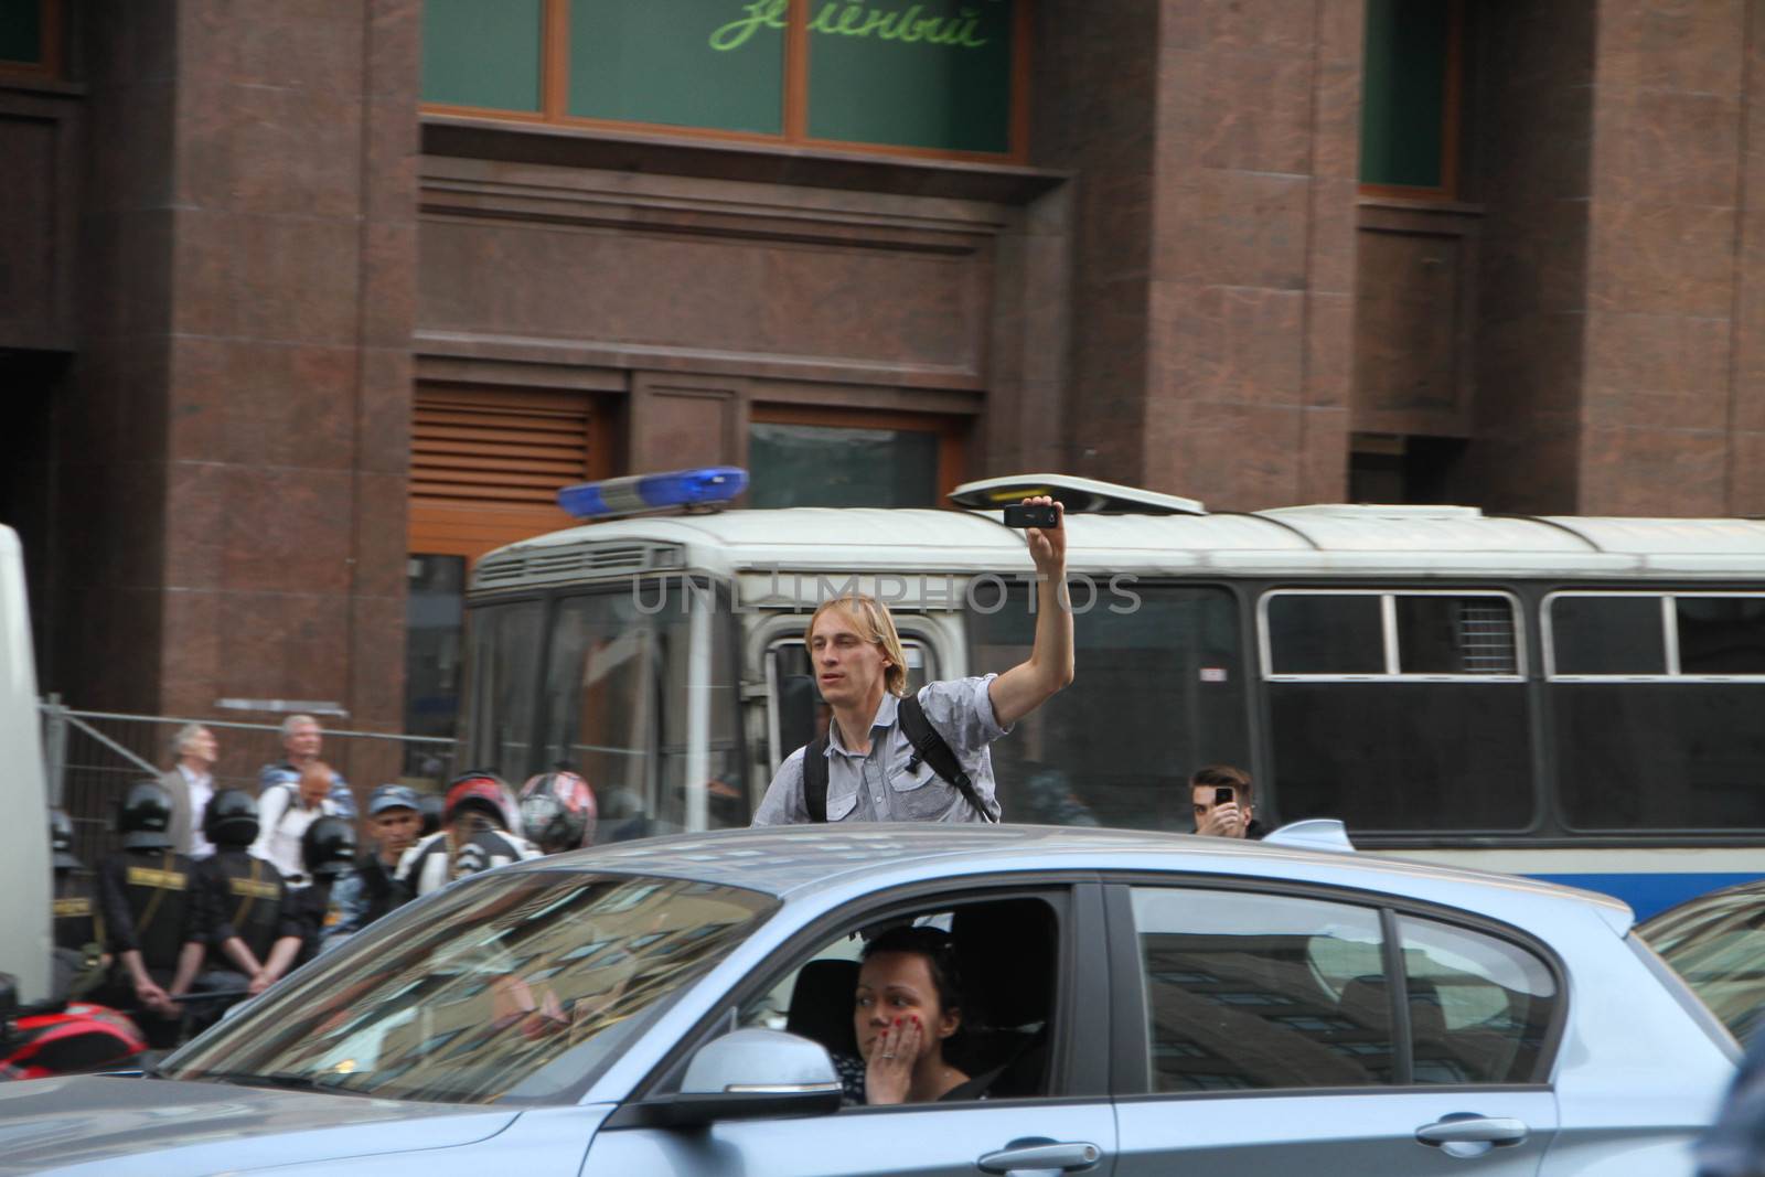
[(907, 662), (888, 605), (844, 595), (808, 619), (808, 658), (831, 711), (828, 734), (785, 757), (755, 826), (838, 821), (999, 821), (992, 755), (1022, 716), (1073, 681), (1061, 505), (1027, 498), (1006, 522), (1025, 528), (1036, 565), (1036, 637), (1003, 674), (927, 683), (907, 693)]

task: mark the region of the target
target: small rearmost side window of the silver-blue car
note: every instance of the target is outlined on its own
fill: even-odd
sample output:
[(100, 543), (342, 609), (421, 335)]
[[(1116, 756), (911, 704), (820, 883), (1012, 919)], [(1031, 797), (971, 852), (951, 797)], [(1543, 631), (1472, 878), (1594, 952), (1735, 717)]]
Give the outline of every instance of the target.
[(1557, 983), (1507, 941), (1400, 916), (1417, 1083), (1525, 1083), (1537, 1071)]

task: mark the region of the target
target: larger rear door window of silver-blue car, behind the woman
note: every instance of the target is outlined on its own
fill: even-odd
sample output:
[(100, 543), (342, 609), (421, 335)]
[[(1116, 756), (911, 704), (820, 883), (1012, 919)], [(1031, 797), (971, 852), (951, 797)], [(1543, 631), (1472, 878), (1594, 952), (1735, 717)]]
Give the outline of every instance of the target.
[(1378, 911), (1135, 888), (1154, 1092), (1393, 1082)]

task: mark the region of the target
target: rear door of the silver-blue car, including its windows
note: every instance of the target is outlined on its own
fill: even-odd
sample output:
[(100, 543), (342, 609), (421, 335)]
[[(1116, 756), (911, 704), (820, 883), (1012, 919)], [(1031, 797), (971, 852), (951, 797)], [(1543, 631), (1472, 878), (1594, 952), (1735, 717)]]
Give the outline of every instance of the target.
[(1108, 914), (1115, 1177), (1537, 1172), (1560, 1023), (1541, 953), (1230, 882), (1115, 886)]

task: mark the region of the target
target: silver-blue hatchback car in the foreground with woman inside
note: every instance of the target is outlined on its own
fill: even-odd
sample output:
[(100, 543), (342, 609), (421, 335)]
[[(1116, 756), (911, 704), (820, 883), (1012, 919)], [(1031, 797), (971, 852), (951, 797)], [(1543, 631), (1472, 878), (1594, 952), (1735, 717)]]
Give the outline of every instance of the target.
[[(507, 866), (150, 1076), (0, 1087), (0, 1172), (1691, 1172), (1735, 1043), (1624, 905), (1280, 840), (819, 826)], [(980, 1098), (842, 1099), (898, 925), (948, 939)]]

